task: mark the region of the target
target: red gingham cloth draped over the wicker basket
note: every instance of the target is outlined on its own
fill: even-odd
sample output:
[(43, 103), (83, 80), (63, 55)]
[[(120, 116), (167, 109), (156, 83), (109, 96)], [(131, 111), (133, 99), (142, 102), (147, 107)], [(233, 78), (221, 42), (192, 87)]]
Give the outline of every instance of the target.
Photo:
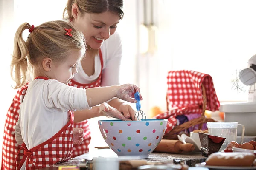
[(204, 85), (206, 91), (206, 109), (216, 111), (220, 107), (212, 77), (209, 74), (189, 70), (169, 71), (167, 85), (168, 111), (155, 116), (156, 119), (168, 119), (165, 134), (169, 133), (177, 124), (176, 116), (202, 113), (201, 85)]

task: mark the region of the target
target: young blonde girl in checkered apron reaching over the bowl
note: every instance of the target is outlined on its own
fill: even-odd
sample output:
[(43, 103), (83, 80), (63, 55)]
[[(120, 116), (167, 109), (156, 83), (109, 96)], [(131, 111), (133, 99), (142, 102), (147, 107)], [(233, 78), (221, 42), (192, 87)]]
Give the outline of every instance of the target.
[[(22, 34), (26, 29), (30, 34), (25, 42)], [(140, 91), (136, 85), (87, 90), (67, 85), (77, 73), (85, 50), (83, 34), (70, 22), (51, 21), (38, 27), (23, 23), (18, 28), (11, 64), (15, 88), (26, 84), (30, 70), (35, 77), (21, 91), (15, 126), (15, 135), (23, 140), (18, 152), (23, 152), (23, 159), (16, 161), (18, 169), (39, 169), (70, 159), (74, 110), (88, 109), (113, 97), (136, 102), (131, 98)]]

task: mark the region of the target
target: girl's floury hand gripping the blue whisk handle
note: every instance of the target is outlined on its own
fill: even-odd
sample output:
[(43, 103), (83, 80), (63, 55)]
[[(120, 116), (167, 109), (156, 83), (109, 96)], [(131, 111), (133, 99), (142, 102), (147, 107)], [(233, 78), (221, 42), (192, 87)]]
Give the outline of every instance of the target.
[[(134, 94), (136, 92), (140, 92), (140, 88), (137, 85), (125, 84), (121, 85), (119, 91), (116, 94), (116, 97), (119, 99), (125, 100), (127, 102), (136, 103), (137, 101), (134, 99)], [(140, 100), (142, 100), (142, 96), (140, 94)]]

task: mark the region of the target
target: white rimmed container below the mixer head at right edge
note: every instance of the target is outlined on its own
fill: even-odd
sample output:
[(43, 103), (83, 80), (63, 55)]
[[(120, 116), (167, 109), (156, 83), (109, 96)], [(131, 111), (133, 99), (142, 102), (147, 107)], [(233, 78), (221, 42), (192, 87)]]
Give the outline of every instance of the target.
[[(256, 102), (221, 103), (220, 111), (225, 113), (225, 122), (238, 122), (245, 127), (244, 135), (256, 136)], [(237, 135), (241, 132), (238, 128)]]

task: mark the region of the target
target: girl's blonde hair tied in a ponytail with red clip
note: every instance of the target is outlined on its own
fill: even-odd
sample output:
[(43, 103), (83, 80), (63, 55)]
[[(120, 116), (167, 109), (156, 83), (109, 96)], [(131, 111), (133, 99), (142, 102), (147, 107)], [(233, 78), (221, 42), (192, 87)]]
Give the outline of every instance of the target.
[[(20, 25), (15, 34), (14, 50), (11, 62), (11, 77), (15, 81), (14, 88), (20, 88), (29, 81), (30, 68), (38, 69), (44, 58), (62, 62), (73, 50), (84, 49), (85, 40), (81, 31), (70, 21), (49, 21), (34, 28), (26, 42), (22, 38), (23, 31), (31, 28), (29, 23)], [(66, 29), (72, 29), (72, 36), (65, 35)]]

